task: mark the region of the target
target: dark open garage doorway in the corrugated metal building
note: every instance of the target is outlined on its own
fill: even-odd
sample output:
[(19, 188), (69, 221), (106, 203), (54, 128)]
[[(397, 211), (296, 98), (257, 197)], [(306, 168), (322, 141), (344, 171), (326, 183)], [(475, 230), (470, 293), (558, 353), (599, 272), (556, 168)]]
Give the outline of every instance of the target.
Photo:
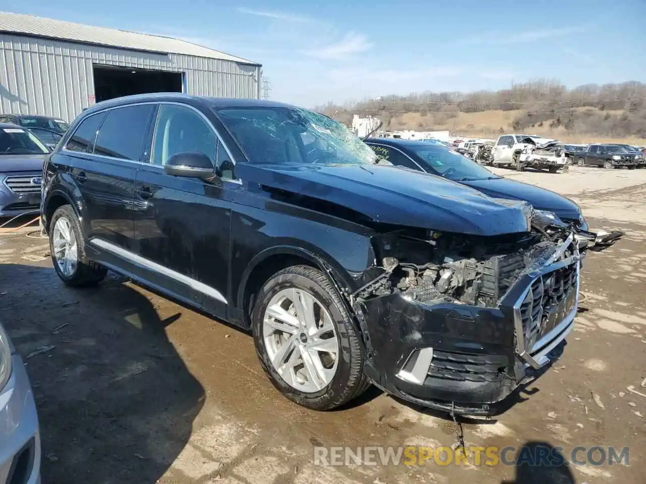
[(149, 92), (182, 92), (182, 72), (92, 65), (97, 103), (114, 97)]

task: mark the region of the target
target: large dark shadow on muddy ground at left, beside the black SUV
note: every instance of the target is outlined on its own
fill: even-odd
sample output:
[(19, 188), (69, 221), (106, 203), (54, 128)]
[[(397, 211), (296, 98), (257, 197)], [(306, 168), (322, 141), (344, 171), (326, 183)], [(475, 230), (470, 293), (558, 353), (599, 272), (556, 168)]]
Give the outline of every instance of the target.
[(50, 267), (1, 265), (0, 288), (36, 398), (43, 482), (156, 483), (205, 399), (165, 331), (181, 313), (160, 318), (118, 277), (67, 288)]

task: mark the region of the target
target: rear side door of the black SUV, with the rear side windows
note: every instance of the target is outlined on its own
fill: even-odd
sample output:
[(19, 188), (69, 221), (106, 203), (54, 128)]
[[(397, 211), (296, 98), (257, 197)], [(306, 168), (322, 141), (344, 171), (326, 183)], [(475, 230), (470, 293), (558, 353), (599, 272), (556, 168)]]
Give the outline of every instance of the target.
[(134, 179), (153, 108), (152, 104), (120, 106), (90, 116), (66, 146), (86, 151), (76, 157), (71, 170), (85, 203), (85, 236), (110, 252), (132, 248)]

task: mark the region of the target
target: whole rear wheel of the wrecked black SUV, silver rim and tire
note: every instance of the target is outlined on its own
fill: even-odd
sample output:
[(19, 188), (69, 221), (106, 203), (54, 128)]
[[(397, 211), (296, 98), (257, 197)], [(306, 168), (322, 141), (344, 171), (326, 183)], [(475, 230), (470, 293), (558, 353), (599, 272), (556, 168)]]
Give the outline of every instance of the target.
[(63, 205), (54, 212), (49, 229), (49, 247), (54, 269), (68, 286), (96, 284), (108, 272), (87, 257), (81, 225), (70, 205)]

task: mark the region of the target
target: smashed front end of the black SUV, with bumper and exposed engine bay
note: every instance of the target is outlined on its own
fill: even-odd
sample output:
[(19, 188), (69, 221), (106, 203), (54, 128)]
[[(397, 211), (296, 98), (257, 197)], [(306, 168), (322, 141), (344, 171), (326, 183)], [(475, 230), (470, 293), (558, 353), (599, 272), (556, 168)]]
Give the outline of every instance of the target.
[(402, 228), (373, 237), (379, 275), (351, 295), (366, 372), (408, 401), (495, 413), (572, 329), (573, 230), (532, 211), (530, 232), (483, 237)]

